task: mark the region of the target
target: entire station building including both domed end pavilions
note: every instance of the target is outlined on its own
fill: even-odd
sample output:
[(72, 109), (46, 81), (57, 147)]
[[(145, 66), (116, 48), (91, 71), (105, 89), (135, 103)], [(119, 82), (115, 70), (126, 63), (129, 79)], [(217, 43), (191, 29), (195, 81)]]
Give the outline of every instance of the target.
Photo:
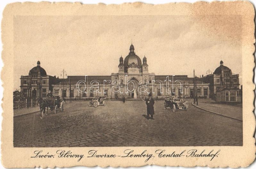
[[(110, 76), (67, 76), (61, 79), (49, 76), (45, 69), (37, 62), (37, 67), (29, 71), (28, 76), (21, 76), (21, 92), (28, 97), (46, 97), (49, 90), (54, 95), (64, 98), (86, 99), (106, 95), (115, 99), (125, 96), (127, 99), (144, 99), (149, 93), (153, 98), (166, 96), (194, 97), (194, 78), (187, 75), (155, 75), (150, 73), (147, 58), (136, 55), (134, 45), (131, 44), (128, 55), (119, 58), (118, 72)], [(169, 87), (166, 80), (169, 82)], [(239, 88), (239, 75), (232, 74), (231, 69), (220, 66), (211, 75), (195, 77), (197, 96), (213, 98), (216, 91), (227, 86)], [(70, 79), (70, 82), (69, 82)], [(218, 80), (219, 79), (219, 80)], [(78, 82), (85, 81), (85, 83)], [(131, 81), (133, 83), (131, 83)], [(142, 92), (145, 91), (146, 92)], [(167, 93), (167, 90), (170, 93)], [(93, 92), (97, 91), (97, 92)]]

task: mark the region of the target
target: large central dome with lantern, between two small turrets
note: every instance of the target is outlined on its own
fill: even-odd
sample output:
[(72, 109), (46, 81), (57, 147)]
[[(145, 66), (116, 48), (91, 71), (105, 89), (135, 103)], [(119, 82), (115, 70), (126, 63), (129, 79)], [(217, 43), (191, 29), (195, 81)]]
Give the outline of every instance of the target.
[(130, 52), (124, 59), (124, 71), (127, 72), (129, 65), (133, 64), (134, 66), (141, 68), (141, 59), (135, 54), (134, 46), (131, 44)]

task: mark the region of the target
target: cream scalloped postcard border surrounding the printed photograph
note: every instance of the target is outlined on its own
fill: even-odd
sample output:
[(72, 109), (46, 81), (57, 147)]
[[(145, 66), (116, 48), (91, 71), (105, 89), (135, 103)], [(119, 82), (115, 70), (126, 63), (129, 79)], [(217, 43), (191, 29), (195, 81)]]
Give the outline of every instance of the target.
[[(178, 9), (177, 9), (178, 8)], [(172, 10), (170, 10), (172, 9)], [(194, 9), (194, 13), (189, 13), (187, 9)], [(207, 9), (214, 9), (208, 10)], [(143, 11), (143, 13), (141, 12)], [(203, 13), (205, 12), (205, 13)], [(197, 147), (202, 149), (222, 149), (223, 154), (216, 161), (207, 159), (183, 159), (183, 160), (159, 160), (153, 159), (144, 163), (143, 160), (84, 160), (77, 162), (74, 160), (40, 160), (29, 158), (34, 148), (13, 148), (13, 101), (12, 101), (12, 83), (13, 83), (13, 16), (15, 15), (241, 15), (244, 22), (243, 25), (243, 146), (210, 146)], [(161, 166), (209, 166), (209, 167), (245, 167), (250, 165), (255, 159), (255, 116), (254, 110), (254, 7), (248, 1), (235, 2), (196, 2), (189, 3), (170, 3), (151, 5), (143, 3), (125, 3), (120, 5), (105, 5), (105, 4), (81, 4), (81, 3), (13, 3), (8, 4), (3, 13), (2, 20), (2, 42), (3, 51), (2, 59), (4, 67), (1, 72), (1, 80), (3, 81), (4, 97), (3, 97), (3, 122), (1, 131), (1, 152), (2, 164), (7, 168), (14, 167), (71, 167), (76, 165), (83, 166), (101, 166), (101, 167), (128, 167), (128, 166), (143, 166), (143, 165), (161, 165)], [(10, 85), (11, 84), (11, 85)], [(246, 94), (244, 94), (246, 93)], [(246, 116), (245, 116), (246, 114)], [(154, 150), (157, 147), (136, 147), (136, 149)], [(186, 149), (187, 147), (165, 147), (166, 149)], [(56, 150), (57, 148), (42, 148), (45, 150)], [(69, 148), (72, 151), (83, 152), (86, 154), (87, 147)], [(124, 147), (99, 147), (105, 152), (122, 152)], [(26, 154), (27, 153), (27, 154)]]

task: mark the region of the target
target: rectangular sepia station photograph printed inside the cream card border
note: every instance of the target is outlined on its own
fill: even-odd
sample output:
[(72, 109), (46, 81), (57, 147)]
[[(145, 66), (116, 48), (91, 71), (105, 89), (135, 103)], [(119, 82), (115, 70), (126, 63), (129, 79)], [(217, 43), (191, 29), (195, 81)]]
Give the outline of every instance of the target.
[(209, 19), (15, 16), (13, 146), (243, 146), (240, 17)]

